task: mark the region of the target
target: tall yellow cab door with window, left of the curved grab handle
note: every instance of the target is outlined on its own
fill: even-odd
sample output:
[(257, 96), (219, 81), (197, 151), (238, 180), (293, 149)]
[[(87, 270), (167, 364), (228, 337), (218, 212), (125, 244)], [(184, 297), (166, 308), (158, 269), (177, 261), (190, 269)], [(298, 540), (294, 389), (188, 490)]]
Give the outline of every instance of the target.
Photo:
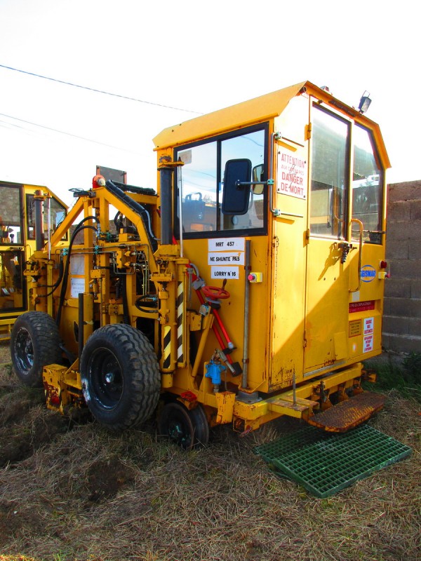
[(351, 122), (313, 103), (305, 288), (304, 377), (345, 363), (349, 306)]

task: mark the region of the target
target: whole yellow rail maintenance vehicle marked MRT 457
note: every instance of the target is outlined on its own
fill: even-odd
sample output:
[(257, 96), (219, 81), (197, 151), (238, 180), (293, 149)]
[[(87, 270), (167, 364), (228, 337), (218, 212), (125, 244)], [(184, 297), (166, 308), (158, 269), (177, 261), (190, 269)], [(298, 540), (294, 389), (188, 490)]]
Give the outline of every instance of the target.
[(219, 424), (368, 419), (383, 398), (361, 361), (381, 352), (387, 278), (377, 124), (304, 82), (154, 143), (156, 192), (96, 176), (34, 252), (18, 376), (114, 430), (161, 398), (159, 432), (185, 448)]

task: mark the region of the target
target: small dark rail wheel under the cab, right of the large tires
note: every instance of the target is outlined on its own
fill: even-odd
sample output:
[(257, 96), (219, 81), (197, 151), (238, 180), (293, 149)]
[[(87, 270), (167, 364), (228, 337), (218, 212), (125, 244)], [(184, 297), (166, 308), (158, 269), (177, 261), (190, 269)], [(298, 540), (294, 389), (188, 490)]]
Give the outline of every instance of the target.
[(194, 446), (194, 428), (189, 410), (178, 401), (163, 406), (158, 418), (158, 431), (183, 450)]

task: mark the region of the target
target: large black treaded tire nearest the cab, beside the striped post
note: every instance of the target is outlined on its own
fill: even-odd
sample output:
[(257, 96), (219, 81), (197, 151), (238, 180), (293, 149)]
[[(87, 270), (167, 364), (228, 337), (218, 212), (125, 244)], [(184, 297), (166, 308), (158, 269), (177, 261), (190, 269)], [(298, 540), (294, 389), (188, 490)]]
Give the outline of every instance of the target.
[(123, 431), (151, 417), (161, 374), (145, 335), (123, 323), (94, 331), (81, 356), (83, 396), (102, 425)]

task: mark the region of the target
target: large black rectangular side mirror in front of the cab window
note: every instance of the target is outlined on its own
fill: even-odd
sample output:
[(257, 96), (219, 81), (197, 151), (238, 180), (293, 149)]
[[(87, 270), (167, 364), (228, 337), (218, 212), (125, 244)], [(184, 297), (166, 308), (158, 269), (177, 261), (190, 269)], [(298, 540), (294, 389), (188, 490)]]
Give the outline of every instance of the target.
[(250, 177), (250, 160), (239, 158), (227, 161), (224, 173), (224, 191), (222, 193), (222, 214), (246, 214), (250, 198)]

